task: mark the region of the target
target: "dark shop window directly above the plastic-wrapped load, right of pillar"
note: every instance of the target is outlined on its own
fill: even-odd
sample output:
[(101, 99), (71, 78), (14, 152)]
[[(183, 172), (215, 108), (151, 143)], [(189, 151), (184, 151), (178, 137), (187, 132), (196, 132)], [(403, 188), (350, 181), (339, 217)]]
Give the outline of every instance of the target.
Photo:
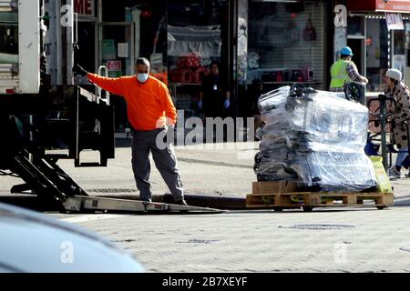
[(249, 2), (247, 82), (264, 90), (292, 82), (324, 88), (323, 1)]

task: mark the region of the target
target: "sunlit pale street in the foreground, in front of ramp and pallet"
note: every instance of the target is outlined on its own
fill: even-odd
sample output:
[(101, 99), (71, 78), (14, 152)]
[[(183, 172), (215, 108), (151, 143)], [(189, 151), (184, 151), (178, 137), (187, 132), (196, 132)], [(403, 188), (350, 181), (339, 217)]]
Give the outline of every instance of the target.
[(55, 216), (128, 248), (149, 272), (410, 271), (408, 207)]

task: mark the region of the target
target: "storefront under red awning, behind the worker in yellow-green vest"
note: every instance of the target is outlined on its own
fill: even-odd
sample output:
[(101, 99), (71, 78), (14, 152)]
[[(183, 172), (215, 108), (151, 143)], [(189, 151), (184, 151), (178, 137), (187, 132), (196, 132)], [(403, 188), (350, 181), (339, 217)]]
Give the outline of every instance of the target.
[[(346, 6), (347, 45), (354, 50), (359, 72), (369, 79), (367, 92), (383, 91), (384, 74), (390, 67), (401, 70), (408, 84), (410, 1), (348, 0)], [(388, 27), (386, 17), (393, 17), (389, 20), (396, 27)]]

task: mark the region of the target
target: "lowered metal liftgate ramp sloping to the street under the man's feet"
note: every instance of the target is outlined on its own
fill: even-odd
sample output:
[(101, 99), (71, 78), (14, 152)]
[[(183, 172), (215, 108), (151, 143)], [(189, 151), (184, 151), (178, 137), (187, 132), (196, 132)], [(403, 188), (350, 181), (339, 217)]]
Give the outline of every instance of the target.
[(30, 161), (23, 151), (15, 156), (13, 170), (26, 184), (13, 186), (12, 193), (26, 190), (49, 202), (56, 203), (62, 212), (121, 212), (121, 213), (196, 213), (215, 214), (224, 210), (198, 206), (179, 206), (167, 203), (144, 203), (139, 200), (88, 196), (59, 166), (44, 156)]

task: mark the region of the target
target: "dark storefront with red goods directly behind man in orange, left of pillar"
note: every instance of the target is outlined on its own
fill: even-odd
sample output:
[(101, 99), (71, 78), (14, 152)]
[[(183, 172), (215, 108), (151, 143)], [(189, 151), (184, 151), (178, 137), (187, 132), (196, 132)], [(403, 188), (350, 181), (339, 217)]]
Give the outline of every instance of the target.
[[(212, 61), (220, 74), (231, 73), (228, 1), (224, 0), (76, 0), (78, 47), (76, 62), (108, 76), (134, 74), (138, 56), (151, 62), (151, 73), (169, 85), (178, 109), (198, 115), (203, 75)], [(228, 78), (229, 79), (229, 78)], [(87, 80), (77, 79), (86, 85)], [(116, 128), (128, 127), (126, 104), (111, 98)]]

